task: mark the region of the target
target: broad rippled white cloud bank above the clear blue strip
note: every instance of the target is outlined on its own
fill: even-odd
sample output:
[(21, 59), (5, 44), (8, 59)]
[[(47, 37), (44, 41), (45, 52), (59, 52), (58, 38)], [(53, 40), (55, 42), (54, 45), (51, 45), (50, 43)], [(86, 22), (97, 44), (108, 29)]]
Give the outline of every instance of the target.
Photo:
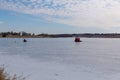
[(0, 0), (0, 8), (80, 27), (120, 26), (120, 0)]

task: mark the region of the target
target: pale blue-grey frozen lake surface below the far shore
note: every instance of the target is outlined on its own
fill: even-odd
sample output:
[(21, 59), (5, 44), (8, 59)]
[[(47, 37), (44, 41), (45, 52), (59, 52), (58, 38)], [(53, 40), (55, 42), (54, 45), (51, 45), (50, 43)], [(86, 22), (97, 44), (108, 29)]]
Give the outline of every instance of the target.
[(0, 65), (26, 80), (120, 80), (119, 38), (0, 38)]

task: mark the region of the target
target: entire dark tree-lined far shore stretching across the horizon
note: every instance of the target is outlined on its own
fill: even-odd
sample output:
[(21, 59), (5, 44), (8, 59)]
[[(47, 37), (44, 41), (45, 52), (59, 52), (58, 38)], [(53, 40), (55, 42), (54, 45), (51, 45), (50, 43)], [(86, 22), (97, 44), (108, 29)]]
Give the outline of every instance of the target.
[(79, 33), (79, 34), (34, 34), (27, 32), (0, 32), (1, 38), (59, 38), (59, 37), (87, 37), (87, 38), (120, 38), (120, 33)]

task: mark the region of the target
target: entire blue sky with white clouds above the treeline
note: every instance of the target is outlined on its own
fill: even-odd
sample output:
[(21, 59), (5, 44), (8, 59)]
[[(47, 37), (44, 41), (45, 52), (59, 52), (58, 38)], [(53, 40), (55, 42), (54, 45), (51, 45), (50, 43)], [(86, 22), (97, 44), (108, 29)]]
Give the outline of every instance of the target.
[(0, 0), (0, 32), (119, 33), (120, 0)]

